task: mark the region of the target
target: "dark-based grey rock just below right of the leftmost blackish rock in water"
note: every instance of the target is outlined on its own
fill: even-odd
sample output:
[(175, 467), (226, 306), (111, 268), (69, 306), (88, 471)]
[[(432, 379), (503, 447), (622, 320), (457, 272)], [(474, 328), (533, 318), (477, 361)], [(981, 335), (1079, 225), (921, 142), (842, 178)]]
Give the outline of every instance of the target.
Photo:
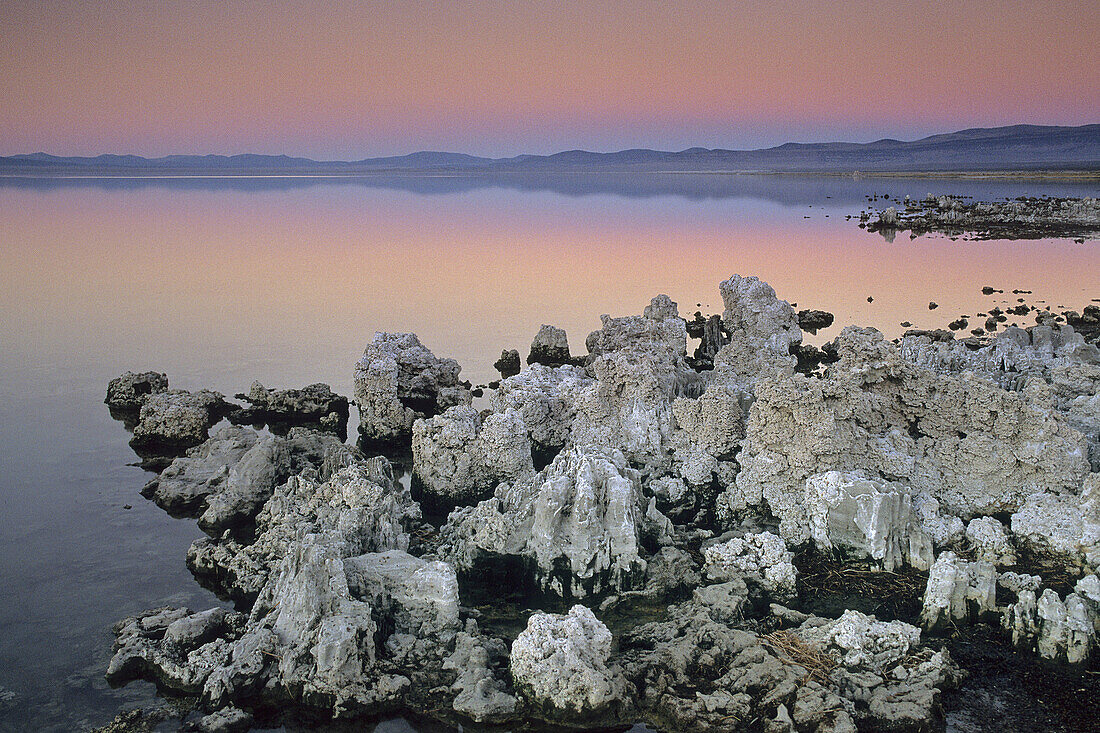
[(150, 394), (139, 412), (130, 447), (143, 459), (179, 456), (206, 440), (208, 430), (228, 411), (224, 397), (209, 390)]

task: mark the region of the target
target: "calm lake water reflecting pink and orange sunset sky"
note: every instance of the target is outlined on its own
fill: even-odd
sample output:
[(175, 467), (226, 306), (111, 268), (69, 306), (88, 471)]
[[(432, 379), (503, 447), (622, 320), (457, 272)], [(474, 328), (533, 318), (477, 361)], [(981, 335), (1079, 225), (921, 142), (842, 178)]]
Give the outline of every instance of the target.
[(682, 314), (721, 313), (733, 273), (835, 313), (818, 342), (846, 324), (895, 336), (903, 320), (944, 327), (1014, 302), (983, 285), (1075, 309), (1100, 297), (1096, 241), (887, 243), (845, 220), (870, 194), (930, 192), (1100, 194), (668, 174), (0, 179), (0, 687), (16, 696), (0, 702), (0, 730), (79, 730), (150, 701), (148, 685), (103, 682), (111, 625), (217, 602), (184, 566), (195, 523), (139, 494), (150, 475), (128, 466), (129, 435), (102, 404), (112, 376), (350, 394), (364, 344), (400, 330), (484, 383), (501, 349), (526, 354), (540, 324), (583, 351), (601, 314), (640, 313), (658, 293)]

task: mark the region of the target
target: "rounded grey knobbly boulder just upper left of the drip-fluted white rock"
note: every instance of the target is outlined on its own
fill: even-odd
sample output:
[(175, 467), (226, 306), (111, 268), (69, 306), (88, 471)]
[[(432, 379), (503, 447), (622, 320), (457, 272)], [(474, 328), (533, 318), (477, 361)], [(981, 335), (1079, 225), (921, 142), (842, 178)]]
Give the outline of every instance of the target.
[(452, 507), (492, 495), (502, 481), (535, 474), (519, 411), (482, 416), (469, 405), (413, 425), (413, 472), (432, 504)]

